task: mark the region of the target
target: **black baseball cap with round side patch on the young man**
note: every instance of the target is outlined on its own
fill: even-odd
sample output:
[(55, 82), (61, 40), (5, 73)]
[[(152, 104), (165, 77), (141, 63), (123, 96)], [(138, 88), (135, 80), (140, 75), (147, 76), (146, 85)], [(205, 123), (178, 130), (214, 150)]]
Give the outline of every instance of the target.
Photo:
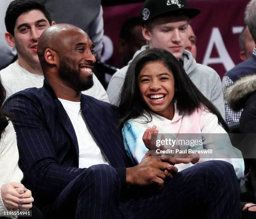
[(200, 14), (197, 8), (187, 8), (187, 0), (146, 0), (141, 9), (142, 23), (159, 15), (182, 13), (189, 18)]

